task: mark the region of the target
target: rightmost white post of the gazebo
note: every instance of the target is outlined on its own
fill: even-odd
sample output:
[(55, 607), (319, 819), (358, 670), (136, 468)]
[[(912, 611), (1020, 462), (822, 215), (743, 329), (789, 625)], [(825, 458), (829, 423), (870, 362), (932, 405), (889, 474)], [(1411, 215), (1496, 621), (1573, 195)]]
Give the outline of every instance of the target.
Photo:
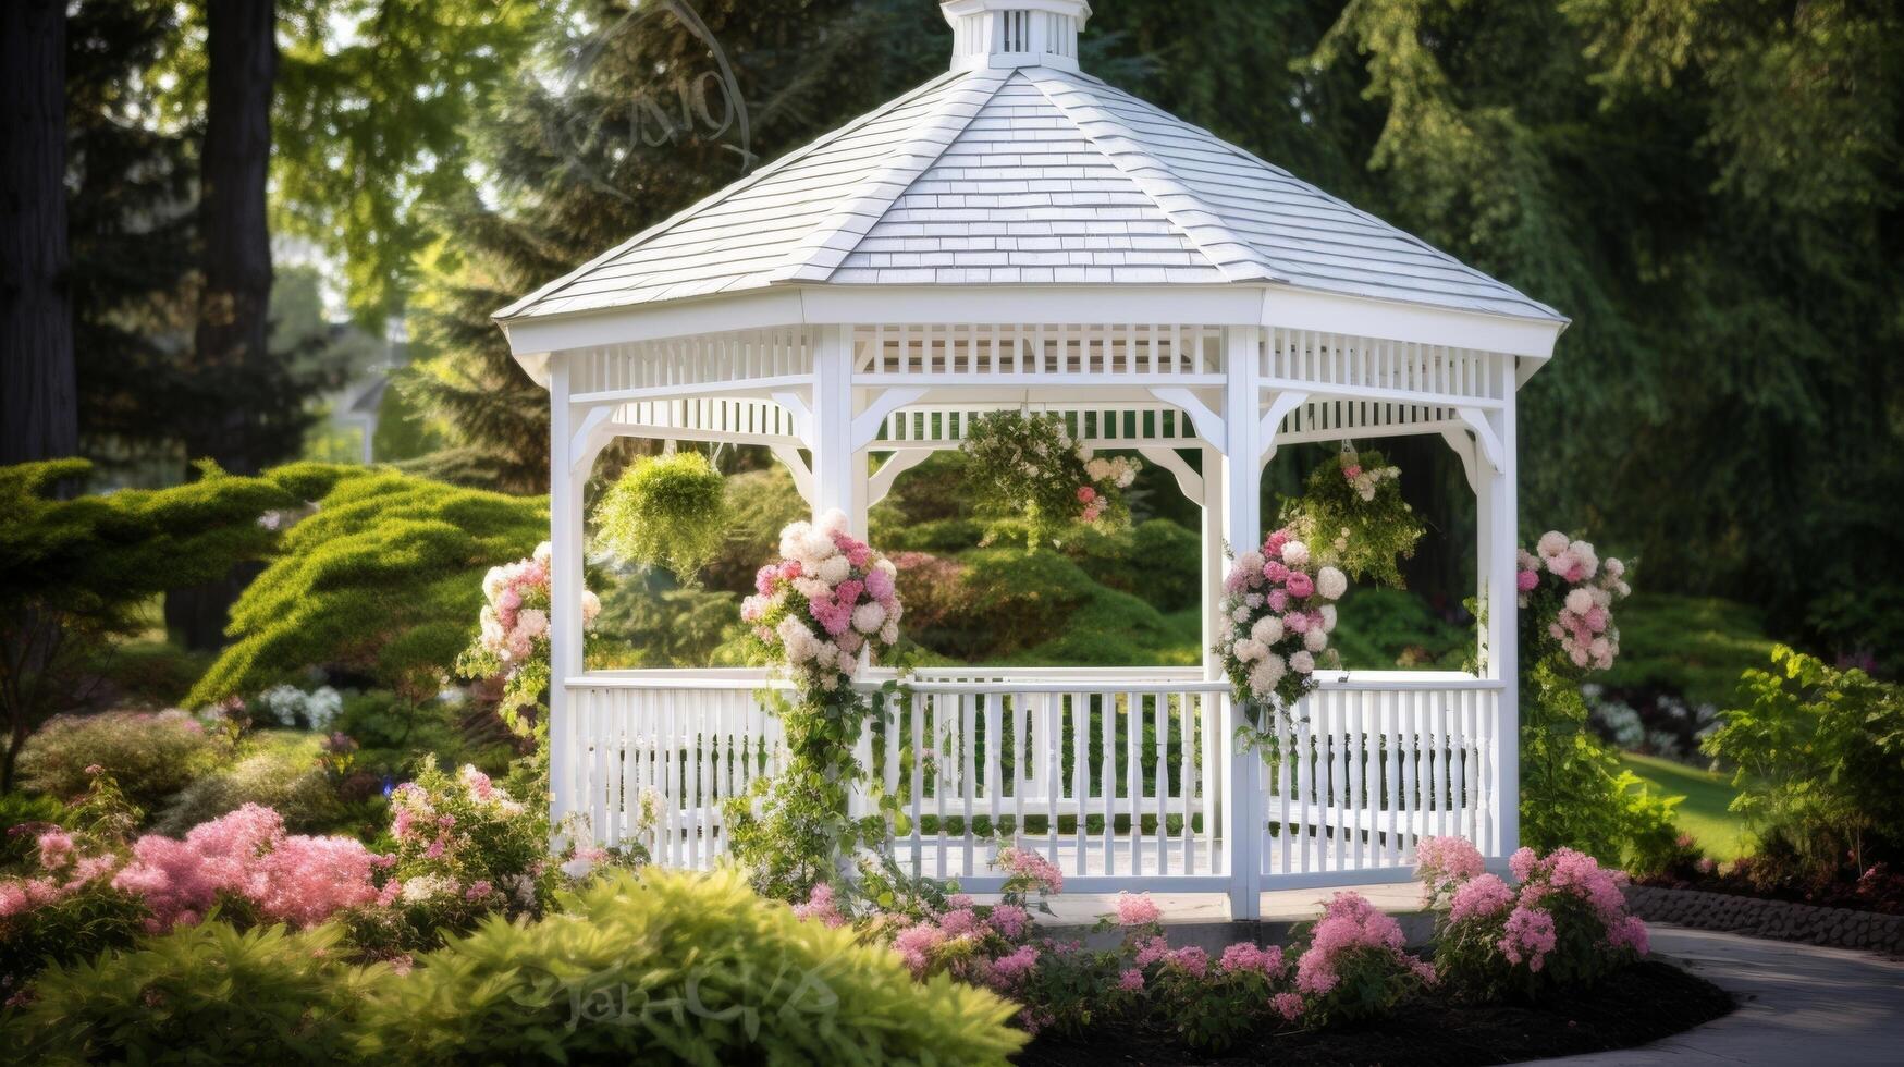
[(1476, 528), (1481, 530), (1479, 581), (1487, 612), (1485, 673), (1498, 678), (1500, 703), (1495, 718), (1495, 804), (1493, 844), (1498, 856), (1512, 856), (1521, 836), (1521, 715), (1519, 715), (1519, 627), (1514, 587), (1516, 547), (1519, 545), (1519, 507), (1514, 467), (1514, 364), (1504, 356), (1495, 373), (1502, 375), (1502, 408), (1487, 415), (1500, 438), (1500, 471), (1483, 463), (1485, 490), (1476, 501)]

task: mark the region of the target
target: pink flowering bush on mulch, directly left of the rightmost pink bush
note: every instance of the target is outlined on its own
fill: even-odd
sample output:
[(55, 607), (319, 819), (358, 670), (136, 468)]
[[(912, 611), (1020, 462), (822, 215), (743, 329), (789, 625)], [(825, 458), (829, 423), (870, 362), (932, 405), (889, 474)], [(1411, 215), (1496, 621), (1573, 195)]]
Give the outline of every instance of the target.
[(1321, 918), (1289, 949), (1304, 1017), (1316, 1025), (1369, 1019), (1434, 985), (1436, 970), (1405, 945), (1401, 924), (1361, 894), (1329, 897)]

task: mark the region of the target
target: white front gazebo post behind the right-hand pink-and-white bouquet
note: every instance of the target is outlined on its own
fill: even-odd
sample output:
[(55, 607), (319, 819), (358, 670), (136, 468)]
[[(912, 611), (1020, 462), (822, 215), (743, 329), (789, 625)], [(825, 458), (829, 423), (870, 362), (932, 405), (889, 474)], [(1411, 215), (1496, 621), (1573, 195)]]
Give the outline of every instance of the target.
[[(1247, 553), (1262, 543), (1262, 442), (1259, 419), (1262, 396), (1262, 345), (1255, 326), (1224, 330), (1224, 537), (1230, 551)], [(1241, 751), (1236, 728), (1241, 711), (1230, 701), (1224, 716), (1222, 747), (1230, 755), (1222, 779), (1224, 848), (1230, 854), (1230, 918), (1257, 918), (1262, 911), (1262, 756)]]

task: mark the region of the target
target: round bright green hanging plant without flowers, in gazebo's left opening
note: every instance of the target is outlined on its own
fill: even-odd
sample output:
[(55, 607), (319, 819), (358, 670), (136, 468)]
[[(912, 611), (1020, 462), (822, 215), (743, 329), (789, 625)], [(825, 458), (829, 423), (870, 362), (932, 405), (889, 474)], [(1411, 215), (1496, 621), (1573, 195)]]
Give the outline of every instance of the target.
[(691, 583), (727, 541), (725, 493), (720, 471), (699, 452), (644, 455), (596, 505), (596, 537), (630, 562), (666, 566)]

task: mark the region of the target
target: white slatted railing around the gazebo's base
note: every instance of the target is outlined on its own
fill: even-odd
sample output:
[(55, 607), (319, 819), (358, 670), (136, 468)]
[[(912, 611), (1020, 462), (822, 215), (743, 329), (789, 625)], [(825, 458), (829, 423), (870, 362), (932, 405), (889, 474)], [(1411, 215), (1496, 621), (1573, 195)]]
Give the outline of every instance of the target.
[[(887, 674), (889, 676), (889, 674)], [(885, 676), (864, 686), (878, 692)], [(760, 671), (590, 673), (556, 724), (556, 810), (668, 867), (727, 852), (725, 802), (781, 766)], [(1458, 673), (1325, 678), (1268, 760), (1236, 760), (1226, 682), (1200, 669), (931, 669), (882, 695), (859, 760), (906, 823), (902, 871), (996, 890), (1002, 836), (1066, 888), (1230, 890), (1407, 876), (1415, 844), (1460, 833), (1495, 856), (1500, 684)], [(1224, 775), (1243, 768), (1226, 810)], [(1249, 802), (1245, 802), (1249, 800)], [(1253, 815), (1245, 815), (1253, 812)], [(1232, 827), (1236, 819), (1255, 821)]]

